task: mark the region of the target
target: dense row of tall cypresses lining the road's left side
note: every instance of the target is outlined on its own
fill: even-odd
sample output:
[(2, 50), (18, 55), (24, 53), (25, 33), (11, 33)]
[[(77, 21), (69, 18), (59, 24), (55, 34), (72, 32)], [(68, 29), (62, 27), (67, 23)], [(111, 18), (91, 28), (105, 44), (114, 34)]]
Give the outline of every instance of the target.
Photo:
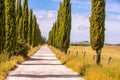
[[(16, 2), (17, 1), (17, 2)], [(0, 0), (0, 54), (23, 55), (44, 43), (37, 18), (28, 0)]]

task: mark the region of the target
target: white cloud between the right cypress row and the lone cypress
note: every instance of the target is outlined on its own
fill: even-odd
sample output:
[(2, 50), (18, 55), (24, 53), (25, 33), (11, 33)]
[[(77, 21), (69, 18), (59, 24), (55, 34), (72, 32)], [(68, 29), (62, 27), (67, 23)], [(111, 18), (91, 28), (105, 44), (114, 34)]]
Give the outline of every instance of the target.
[[(80, 26), (88, 28), (79, 28)], [(89, 19), (86, 16), (75, 14), (72, 16), (71, 42), (89, 41)]]

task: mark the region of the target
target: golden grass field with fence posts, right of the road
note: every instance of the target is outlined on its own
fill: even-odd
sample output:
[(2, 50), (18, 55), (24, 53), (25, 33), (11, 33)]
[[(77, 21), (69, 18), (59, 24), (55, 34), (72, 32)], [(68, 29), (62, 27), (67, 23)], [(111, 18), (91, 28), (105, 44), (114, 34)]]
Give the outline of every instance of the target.
[[(78, 72), (86, 80), (120, 80), (120, 46), (105, 46), (100, 66), (95, 64), (95, 51), (90, 46), (70, 46), (67, 54), (54, 47), (50, 48), (62, 64)], [(112, 59), (108, 64), (109, 57)]]

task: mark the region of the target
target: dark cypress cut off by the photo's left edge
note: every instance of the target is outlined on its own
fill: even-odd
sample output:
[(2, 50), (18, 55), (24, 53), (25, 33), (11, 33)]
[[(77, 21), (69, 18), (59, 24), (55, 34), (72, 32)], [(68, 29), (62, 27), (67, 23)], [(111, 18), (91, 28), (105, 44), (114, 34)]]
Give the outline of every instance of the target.
[(5, 44), (5, 1), (0, 0), (0, 53)]

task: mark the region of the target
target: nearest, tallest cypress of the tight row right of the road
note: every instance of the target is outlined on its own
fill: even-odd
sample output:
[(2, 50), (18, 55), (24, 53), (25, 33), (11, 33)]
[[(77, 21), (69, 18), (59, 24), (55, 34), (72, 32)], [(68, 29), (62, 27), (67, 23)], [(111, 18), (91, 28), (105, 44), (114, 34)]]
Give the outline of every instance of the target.
[(70, 32), (71, 32), (71, 3), (70, 0), (64, 0), (60, 4), (59, 11), (59, 47), (67, 52), (70, 43)]

